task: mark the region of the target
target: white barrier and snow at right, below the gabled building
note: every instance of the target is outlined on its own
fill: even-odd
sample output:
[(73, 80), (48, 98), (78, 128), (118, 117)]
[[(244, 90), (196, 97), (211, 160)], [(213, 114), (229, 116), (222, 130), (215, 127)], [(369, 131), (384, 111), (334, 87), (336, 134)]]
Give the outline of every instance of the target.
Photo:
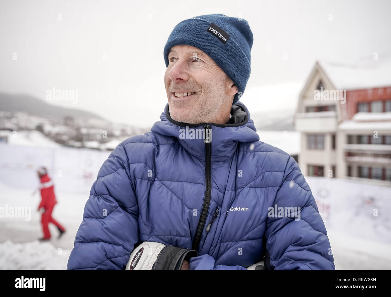
[[(307, 176), (337, 270), (391, 269), (391, 187)], [(374, 215), (376, 214), (376, 215)]]

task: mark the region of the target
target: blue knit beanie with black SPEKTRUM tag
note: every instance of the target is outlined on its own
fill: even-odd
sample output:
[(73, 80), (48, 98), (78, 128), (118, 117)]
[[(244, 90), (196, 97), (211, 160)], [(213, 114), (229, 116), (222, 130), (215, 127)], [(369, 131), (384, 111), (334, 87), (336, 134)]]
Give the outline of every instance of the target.
[(164, 60), (169, 66), (170, 49), (176, 45), (199, 48), (215, 61), (239, 89), (235, 104), (244, 92), (250, 76), (253, 33), (248, 22), (224, 14), (206, 14), (181, 21), (172, 30), (164, 47)]

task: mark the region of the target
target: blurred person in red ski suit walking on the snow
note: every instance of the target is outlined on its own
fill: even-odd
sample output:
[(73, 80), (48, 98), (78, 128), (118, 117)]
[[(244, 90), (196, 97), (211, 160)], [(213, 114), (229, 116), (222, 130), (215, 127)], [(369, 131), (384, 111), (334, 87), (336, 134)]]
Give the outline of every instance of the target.
[(54, 184), (50, 179), (47, 173), (47, 169), (45, 167), (39, 167), (37, 170), (37, 174), (40, 179), (39, 189), (41, 190), (41, 203), (38, 206), (38, 211), (43, 208), (45, 211), (42, 213), (41, 224), (43, 229), (43, 238), (39, 238), (39, 240), (49, 240), (50, 239), (50, 231), (49, 231), (49, 222), (55, 224), (57, 226), (58, 231), (60, 232), (58, 238), (63, 235), (65, 232), (65, 228), (59, 224), (55, 219), (52, 218), (52, 212), (54, 205), (56, 205), (57, 200), (54, 195)]

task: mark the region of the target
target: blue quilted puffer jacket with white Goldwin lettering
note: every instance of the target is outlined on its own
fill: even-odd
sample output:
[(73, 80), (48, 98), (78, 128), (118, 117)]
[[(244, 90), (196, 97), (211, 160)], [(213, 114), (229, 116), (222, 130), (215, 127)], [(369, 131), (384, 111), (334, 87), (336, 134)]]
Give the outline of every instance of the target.
[[(147, 240), (198, 251), (190, 270), (246, 270), (262, 258), (269, 269), (334, 270), (298, 164), (259, 140), (243, 103), (231, 115), (184, 124), (167, 104), (151, 132), (119, 144), (92, 186), (67, 269), (125, 269)], [(279, 207), (300, 207), (300, 217)]]

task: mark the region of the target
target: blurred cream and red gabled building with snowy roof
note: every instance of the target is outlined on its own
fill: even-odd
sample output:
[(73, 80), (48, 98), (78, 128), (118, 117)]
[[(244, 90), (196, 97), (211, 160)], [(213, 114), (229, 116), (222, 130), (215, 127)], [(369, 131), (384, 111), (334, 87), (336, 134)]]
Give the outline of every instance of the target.
[(391, 59), (317, 61), (294, 114), (307, 176), (391, 185)]

